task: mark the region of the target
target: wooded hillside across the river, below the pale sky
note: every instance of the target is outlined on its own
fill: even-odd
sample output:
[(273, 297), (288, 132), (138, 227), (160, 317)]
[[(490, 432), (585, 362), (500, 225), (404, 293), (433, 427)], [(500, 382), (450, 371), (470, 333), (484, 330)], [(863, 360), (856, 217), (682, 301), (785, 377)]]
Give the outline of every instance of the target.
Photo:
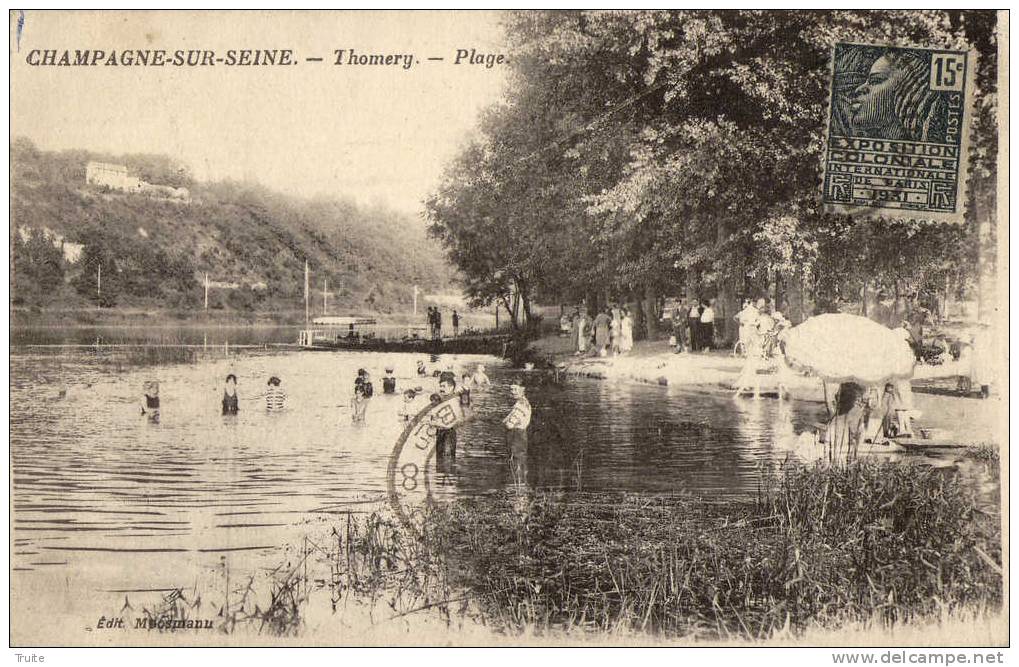
[[(87, 185), (90, 160), (126, 165), (148, 182), (186, 187), (191, 202)], [(109, 299), (104, 305), (200, 308), (208, 273), (210, 280), (242, 285), (212, 290), (212, 308), (299, 309), (307, 260), (316, 302), (328, 280), (336, 311), (391, 312), (411, 302), (414, 284), (444, 290), (453, 277), (424, 224), (392, 211), (303, 200), (253, 183), (198, 182), (164, 156), (43, 152), (16, 140), (11, 166), (12, 233), (47, 230), (85, 245), (78, 261), (61, 267), (65, 288), (47, 294), (47, 303), (94, 298), (100, 264)], [(28, 261), (17, 262), (17, 247), (15, 296), (31, 292), (32, 278)]]

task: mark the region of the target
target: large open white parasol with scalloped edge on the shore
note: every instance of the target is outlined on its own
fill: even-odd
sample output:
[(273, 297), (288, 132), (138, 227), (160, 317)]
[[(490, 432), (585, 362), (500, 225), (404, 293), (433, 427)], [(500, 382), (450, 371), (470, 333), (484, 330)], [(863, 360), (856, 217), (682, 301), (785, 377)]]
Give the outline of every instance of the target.
[(915, 357), (905, 338), (857, 315), (812, 317), (782, 341), (790, 366), (829, 382), (867, 386), (913, 377)]

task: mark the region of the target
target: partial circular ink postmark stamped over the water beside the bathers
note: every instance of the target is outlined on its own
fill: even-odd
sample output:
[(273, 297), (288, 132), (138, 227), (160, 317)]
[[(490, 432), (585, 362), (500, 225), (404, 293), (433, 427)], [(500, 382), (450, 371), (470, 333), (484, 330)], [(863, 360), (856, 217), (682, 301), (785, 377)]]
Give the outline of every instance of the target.
[(438, 429), (455, 428), (465, 416), (460, 394), (429, 403), (408, 422), (389, 454), (389, 504), (404, 526), (417, 537), (421, 535), (424, 509), (432, 502), (428, 467), (435, 458)]

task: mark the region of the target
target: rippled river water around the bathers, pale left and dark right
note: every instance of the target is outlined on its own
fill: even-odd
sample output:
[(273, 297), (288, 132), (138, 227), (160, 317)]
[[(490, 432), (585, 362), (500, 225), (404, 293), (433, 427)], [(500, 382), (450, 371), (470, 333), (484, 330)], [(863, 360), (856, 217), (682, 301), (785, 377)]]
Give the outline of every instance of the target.
[[(476, 418), (461, 430), (455, 462), (434, 478), (440, 497), (513, 484), (499, 425), (513, 403), (511, 382), (528, 387), (534, 408), (530, 488), (745, 497), (755, 493), (762, 464), (789, 456), (774, 444), (779, 430), (823, 413), (819, 403), (555, 383), (485, 357), (217, 347), (195, 364), (138, 368), (109, 354), (11, 348), (12, 586), (25, 619), (53, 622), (56, 595), (61, 622), (89, 625), (97, 604), (189, 587), (226, 559), (240, 570), (269, 567), (310, 524), (379, 506), (403, 427), (403, 398), (381, 394), (385, 367), (394, 368), (399, 389), (426, 395), (437, 383), (416, 374), (419, 359), (430, 369), (489, 369), (492, 386), (475, 392)], [(376, 388), (363, 427), (352, 424), (348, 407), (359, 368)], [(238, 378), (240, 409), (224, 416), (228, 373)], [(265, 409), (270, 375), (288, 394), (281, 413)], [(158, 423), (138, 406), (147, 380), (160, 382)]]

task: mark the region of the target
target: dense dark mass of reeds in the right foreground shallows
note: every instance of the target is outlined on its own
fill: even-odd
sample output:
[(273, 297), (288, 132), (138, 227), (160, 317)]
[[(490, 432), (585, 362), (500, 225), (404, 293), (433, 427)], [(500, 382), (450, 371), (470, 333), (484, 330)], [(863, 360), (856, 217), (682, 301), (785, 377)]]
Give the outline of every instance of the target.
[(433, 548), (507, 629), (764, 638), (1000, 604), (997, 522), (953, 478), (859, 461), (768, 480), (754, 503), (464, 500), (432, 515)]

